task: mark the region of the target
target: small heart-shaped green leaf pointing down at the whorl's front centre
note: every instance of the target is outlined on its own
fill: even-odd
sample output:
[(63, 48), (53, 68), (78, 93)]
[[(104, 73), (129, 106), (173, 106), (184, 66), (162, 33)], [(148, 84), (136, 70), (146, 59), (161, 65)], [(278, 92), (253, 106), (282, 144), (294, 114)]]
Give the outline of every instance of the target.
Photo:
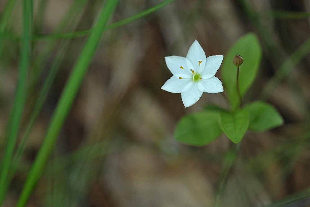
[(223, 111), (220, 113), (219, 125), (232, 142), (238, 143), (249, 126), (249, 113), (244, 109), (230, 113)]

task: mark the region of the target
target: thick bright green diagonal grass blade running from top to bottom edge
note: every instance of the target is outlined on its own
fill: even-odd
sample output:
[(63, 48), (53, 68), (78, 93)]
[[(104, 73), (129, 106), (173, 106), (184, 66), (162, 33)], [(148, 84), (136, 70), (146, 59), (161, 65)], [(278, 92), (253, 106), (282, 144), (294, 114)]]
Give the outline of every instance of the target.
[(105, 2), (99, 19), (96, 21), (94, 29), (87, 39), (80, 57), (74, 66), (69, 80), (62, 92), (60, 100), (51, 119), (50, 126), (47, 129), (47, 134), (26, 179), (25, 186), (21, 192), (16, 207), (24, 207), (24, 205), (26, 205), (34, 186), (42, 175), (48, 157), (55, 146), (56, 138), (73, 104), (84, 75), (86, 74), (88, 66), (91, 63), (91, 59), (95, 54), (108, 18), (115, 10), (117, 3), (118, 0), (107, 0)]

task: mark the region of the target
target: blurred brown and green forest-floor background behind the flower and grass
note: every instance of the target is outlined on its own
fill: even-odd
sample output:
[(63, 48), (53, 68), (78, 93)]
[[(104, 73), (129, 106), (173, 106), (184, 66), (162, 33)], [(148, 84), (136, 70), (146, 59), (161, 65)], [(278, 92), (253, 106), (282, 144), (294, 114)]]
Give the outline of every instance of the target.
[[(76, 0), (35, 0), (32, 64), (48, 45), (46, 61), (29, 72), (23, 115), (34, 101), (57, 51), (66, 45), (60, 69), (29, 136), (22, 161), (3, 206), (14, 206), (51, 115), (86, 36), (50, 39), (61, 21), (68, 31), (90, 29), (104, 1), (89, 0), (76, 18), (64, 19)], [(137, 14), (159, 0), (121, 0), (110, 23)], [(0, 1), (3, 12), (6, 1)], [(0, 149), (14, 99), (19, 64), (21, 1), (17, 1), (0, 57)], [(287, 11), (287, 12), (281, 12)], [(291, 13), (290, 13), (291, 12)], [(212, 206), (223, 158), (231, 146), (223, 134), (203, 147), (175, 141), (178, 120), (208, 103), (228, 107), (221, 94), (204, 93), (184, 108), (180, 94), (161, 90), (172, 74), (164, 57), (186, 56), (195, 39), (206, 56), (225, 54), (243, 34), (257, 34), (263, 58), (244, 103), (257, 100), (279, 68), (300, 46), (304, 54), (266, 101), (285, 124), (263, 133), (248, 131), (229, 172), (222, 206), (267, 206), (310, 186), (310, 2), (307, 0), (175, 0), (127, 25), (104, 32), (76, 101), (58, 137), (28, 206), (199, 207)], [(15, 38), (16, 37), (16, 38)], [(309, 43), (308, 43), (309, 44)], [(224, 56), (225, 57), (225, 56)], [(299, 58), (296, 57), (296, 58)], [(286, 64), (290, 64), (286, 63)], [(242, 67), (242, 66), (241, 66)], [(220, 70), (215, 75), (219, 79)], [(225, 88), (224, 88), (225, 89)], [(2, 156), (2, 153), (0, 154)], [(297, 194), (296, 194), (297, 193)], [(307, 206), (307, 200), (302, 205)]]

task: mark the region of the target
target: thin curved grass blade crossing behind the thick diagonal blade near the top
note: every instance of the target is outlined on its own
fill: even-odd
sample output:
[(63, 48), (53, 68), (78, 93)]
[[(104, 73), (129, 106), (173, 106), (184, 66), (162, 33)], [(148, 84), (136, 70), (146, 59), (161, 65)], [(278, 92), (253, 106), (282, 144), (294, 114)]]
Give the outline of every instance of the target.
[[(157, 11), (158, 9), (166, 6), (167, 4), (173, 2), (175, 0), (165, 0), (159, 4), (157, 4), (154, 7), (151, 7), (145, 11), (142, 11), (138, 14), (135, 14), (133, 16), (130, 16), (126, 19), (114, 22), (108, 26), (105, 27), (104, 30), (108, 30), (108, 29), (114, 29), (117, 28), (119, 26), (128, 24), (130, 22), (133, 22), (141, 17), (147, 16), (149, 14), (151, 14), (154, 11)], [(51, 35), (37, 35), (36, 38), (37, 40), (41, 40), (41, 39), (59, 39), (59, 38), (77, 38), (77, 37), (81, 37), (81, 36), (85, 36), (91, 33), (91, 29), (86, 29), (86, 30), (82, 30), (82, 31), (78, 31), (78, 32), (72, 32), (72, 33), (64, 33), (64, 34), (51, 34)]]

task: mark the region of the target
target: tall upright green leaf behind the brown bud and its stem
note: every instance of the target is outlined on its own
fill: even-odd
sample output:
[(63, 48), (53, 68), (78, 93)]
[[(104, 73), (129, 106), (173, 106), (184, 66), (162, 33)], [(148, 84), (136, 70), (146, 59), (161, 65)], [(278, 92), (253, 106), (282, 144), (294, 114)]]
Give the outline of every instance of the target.
[(243, 63), (239, 67), (239, 88), (243, 97), (256, 78), (262, 57), (262, 49), (255, 34), (247, 33), (242, 36), (224, 55), (222, 81), (233, 109), (240, 104), (236, 85), (237, 67), (232, 64), (237, 54), (243, 56)]

